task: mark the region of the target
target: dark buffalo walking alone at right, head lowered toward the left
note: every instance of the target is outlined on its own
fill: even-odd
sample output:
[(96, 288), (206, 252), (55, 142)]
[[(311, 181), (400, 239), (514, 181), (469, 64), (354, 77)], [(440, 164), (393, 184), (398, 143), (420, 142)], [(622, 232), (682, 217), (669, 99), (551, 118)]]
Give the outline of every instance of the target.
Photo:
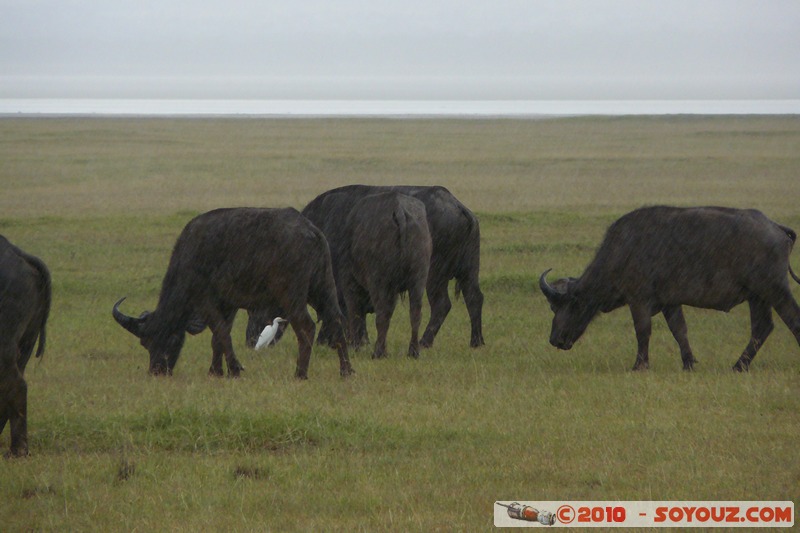
[(772, 309), (800, 344), (800, 306), (787, 271), (796, 239), (791, 229), (753, 210), (646, 207), (623, 216), (606, 233), (580, 278), (539, 278), (553, 317), (550, 343), (569, 350), (598, 312), (627, 305), (636, 329), (634, 370), (649, 365), (650, 318), (663, 313), (681, 350), (683, 368), (696, 362), (682, 305), (729, 311), (750, 304), (751, 338), (734, 370), (748, 370), (773, 329)]

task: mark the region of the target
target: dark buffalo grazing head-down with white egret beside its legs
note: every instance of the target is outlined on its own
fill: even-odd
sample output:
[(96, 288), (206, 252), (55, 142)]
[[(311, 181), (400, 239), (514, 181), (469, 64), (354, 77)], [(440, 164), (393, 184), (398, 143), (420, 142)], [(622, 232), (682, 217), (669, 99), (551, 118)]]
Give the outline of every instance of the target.
[[(334, 332), (341, 374), (352, 373), (344, 336), (344, 317), (336, 298), (325, 236), (295, 209), (217, 209), (191, 220), (172, 251), (158, 307), (139, 318), (113, 316), (141, 339), (150, 353), (150, 373), (171, 374), (186, 332), (211, 328), (209, 373), (228, 374), (242, 366), (231, 342), (236, 311), (277, 309), (294, 328), (299, 345), (296, 377), (305, 379), (315, 325), (311, 305)], [(199, 320), (198, 320), (199, 318)]]

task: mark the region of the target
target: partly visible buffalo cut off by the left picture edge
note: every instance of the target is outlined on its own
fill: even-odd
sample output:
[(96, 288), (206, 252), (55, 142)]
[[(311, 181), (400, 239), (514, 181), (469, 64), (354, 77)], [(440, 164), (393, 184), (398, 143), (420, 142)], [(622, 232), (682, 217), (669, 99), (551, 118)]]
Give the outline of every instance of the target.
[(22, 377), (50, 315), (47, 266), (0, 236), (0, 433), (11, 421), (9, 455), (28, 455), (28, 385)]

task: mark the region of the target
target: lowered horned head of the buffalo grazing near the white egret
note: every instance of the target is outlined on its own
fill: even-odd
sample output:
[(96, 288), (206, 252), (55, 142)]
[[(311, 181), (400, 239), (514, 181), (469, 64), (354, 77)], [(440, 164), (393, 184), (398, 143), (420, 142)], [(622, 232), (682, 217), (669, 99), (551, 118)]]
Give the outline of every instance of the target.
[(149, 352), (151, 374), (172, 375), (172, 369), (178, 362), (186, 333), (197, 335), (205, 329), (205, 323), (198, 318), (193, 318), (182, 327), (156, 327), (152, 320), (153, 314), (149, 311), (139, 315), (139, 318), (128, 316), (120, 311), (119, 306), (124, 300), (125, 298), (121, 298), (114, 304), (111, 311), (114, 320), (127, 331), (136, 335), (142, 346)]

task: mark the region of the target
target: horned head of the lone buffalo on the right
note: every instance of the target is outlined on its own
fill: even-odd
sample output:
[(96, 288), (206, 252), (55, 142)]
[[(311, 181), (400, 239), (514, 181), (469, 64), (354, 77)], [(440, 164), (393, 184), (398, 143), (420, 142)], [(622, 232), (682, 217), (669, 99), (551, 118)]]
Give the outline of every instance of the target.
[(539, 289), (554, 313), (550, 344), (561, 350), (569, 350), (586, 331), (599, 306), (590, 295), (582, 293), (575, 278), (561, 278), (553, 285), (547, 283), (550, 270), (545, 270), (539, 276)]

